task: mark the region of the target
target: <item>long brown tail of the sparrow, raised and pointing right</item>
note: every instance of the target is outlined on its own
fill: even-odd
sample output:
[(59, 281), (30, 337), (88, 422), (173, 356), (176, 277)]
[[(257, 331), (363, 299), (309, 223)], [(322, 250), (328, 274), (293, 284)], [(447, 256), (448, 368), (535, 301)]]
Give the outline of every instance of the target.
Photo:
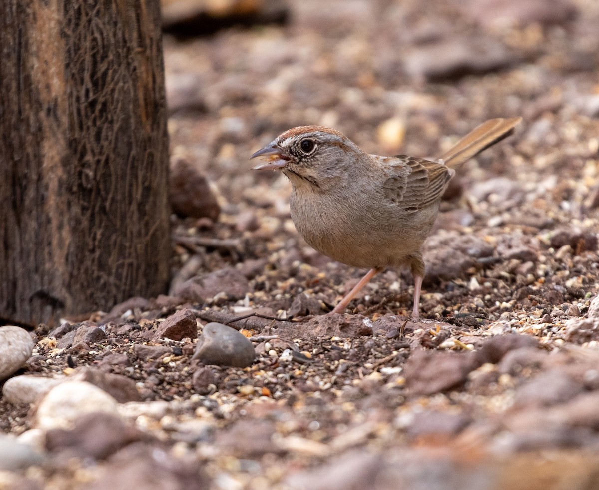
[(438, 160), (443, 161), (447, 167), (458, 167), (458, 165), (478, 155), (489, 146), (508, 137), (521, 120), (522, 117), (489, 119), (465, 135), (458, 143), (443, 153)]

